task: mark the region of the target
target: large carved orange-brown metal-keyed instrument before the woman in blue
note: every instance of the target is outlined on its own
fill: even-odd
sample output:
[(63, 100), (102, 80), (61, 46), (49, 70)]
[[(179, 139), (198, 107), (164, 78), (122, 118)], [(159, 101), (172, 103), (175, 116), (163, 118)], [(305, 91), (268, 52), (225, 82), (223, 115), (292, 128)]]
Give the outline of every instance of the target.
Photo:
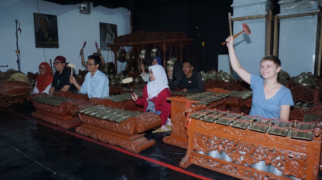
[(281, 121), (204, 108), (188, 117), (182, 168), (195, 164), (243, 180), (318, 180), (321, 117)]

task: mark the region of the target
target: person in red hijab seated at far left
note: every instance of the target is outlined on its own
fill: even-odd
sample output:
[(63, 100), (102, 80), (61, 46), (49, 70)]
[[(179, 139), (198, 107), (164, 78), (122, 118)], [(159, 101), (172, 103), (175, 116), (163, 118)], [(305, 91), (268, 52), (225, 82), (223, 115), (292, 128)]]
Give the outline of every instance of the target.
[(41, 62), (39, 65), (39, 76), (36, 78), (36, 85), (31, 94), (49, 93), (54, 75), (48, 62)]

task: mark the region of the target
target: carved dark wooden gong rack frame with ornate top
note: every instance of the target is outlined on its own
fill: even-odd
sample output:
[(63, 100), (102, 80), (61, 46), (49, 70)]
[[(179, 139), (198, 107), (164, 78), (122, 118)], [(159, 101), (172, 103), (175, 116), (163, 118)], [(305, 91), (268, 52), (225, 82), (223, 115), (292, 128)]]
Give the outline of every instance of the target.
[[(132, 46), (134, 47), (136, 53), (137, 64), (140, 63), (140, 52), (143, 50), (144, 45), (157, 45), (161, 48), (163, 53), (163, 64), (166, 68), (167, 60), (167, 51), (169, 47), (173, 44), (179, 48), (180, 60), (182, 61), (182, 52), (186, 44), (193, 41), (193, 39), (187, 39), (185, 33), (183, 32), (146, 32), (146, 31), (135, 31), (129, 34), (121, 35), (115, 37), (113, 44), (107, 44), (107, 47), (110, 47), (114, 53), (114, 61), (116, 62), (116, 52), (123, 46)], [(161, 57), (160, 57), (161, 58)], [(117, 63), (115, 63), (115, 70), (117, 72)]]

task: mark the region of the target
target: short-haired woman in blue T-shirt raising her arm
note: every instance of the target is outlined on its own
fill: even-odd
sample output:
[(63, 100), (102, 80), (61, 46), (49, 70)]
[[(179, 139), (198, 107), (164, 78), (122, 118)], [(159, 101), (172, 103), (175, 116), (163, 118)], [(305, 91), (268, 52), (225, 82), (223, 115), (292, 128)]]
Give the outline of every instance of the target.
[(252, 89), (250, 116), (261, 116), (267, 119), (289, 120), (290, 106), (293, 98), (289, 89), (277, 81), (281, 71), (281, 60), (273, 55), (260, 60), (262, 77), (250, 74), (240, 64), (234, 50), (234, 38), (226, 39), (231, 67)]

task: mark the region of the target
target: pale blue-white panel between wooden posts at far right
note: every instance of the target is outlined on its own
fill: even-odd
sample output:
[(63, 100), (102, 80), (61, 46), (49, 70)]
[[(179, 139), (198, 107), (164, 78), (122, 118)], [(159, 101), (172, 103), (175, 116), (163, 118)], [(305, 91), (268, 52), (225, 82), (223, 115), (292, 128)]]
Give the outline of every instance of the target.
[(314, 72), (318, 55), (316, 49), (319, 48), (316, 44), (319, 37), (317, 26), (318, 15), (280, 20), (279, 58), (282, 61), (282, 70), (291, 77), (302, 72), (317, 74)]

